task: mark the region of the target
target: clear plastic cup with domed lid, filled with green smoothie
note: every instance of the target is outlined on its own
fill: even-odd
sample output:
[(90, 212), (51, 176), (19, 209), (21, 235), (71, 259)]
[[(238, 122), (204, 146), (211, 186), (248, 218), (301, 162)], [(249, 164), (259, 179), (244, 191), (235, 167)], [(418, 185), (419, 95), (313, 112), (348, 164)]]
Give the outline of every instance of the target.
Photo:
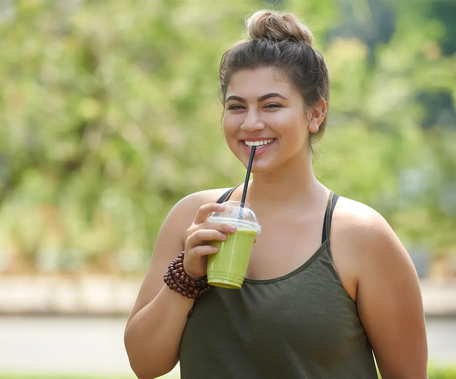
[[(248, 205), (227, 201), (223, 212), (214, 212), (207, 222), (223, 222), (237, 226), (235, 233), (228, 233), (225, 241), (212, 241), (218, 252), (207, 256), (207, 283), (223, 288), (239, 289), (244, 283), (250, 253), (261, 226)], [(242, 214), (242, 218), (239, 215)]]

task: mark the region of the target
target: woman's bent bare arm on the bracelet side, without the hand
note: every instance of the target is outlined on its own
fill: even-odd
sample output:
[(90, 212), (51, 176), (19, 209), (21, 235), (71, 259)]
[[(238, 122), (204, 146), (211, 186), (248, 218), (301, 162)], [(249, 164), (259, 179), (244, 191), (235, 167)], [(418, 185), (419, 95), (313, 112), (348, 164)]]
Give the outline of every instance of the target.
[(174, 206), (161, 227), (124, 335), (130, 366), (140, 379), (166, 374), (177, 363), (187, 314), (195, 300), (171, 291), (163, 283), (163, 274), (183, 251), (187, 228), (200, 206), (217, 200), (223, 192), (209, 190), (187, 196)]

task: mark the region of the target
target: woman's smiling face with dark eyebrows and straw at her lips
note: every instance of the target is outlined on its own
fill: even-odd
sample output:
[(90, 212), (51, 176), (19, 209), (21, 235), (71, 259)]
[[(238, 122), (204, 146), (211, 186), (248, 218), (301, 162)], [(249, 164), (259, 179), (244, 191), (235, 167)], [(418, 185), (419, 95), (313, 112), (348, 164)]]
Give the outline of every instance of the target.
[(258, 68), (233, 74), (223, 131), (228, 147), (246, 167), (252, 151), (247, 145), (257, 145), (252, 172), (269, 172), (298, 153), (308, 156), (308, 127), (302, 96), (280, 71)]

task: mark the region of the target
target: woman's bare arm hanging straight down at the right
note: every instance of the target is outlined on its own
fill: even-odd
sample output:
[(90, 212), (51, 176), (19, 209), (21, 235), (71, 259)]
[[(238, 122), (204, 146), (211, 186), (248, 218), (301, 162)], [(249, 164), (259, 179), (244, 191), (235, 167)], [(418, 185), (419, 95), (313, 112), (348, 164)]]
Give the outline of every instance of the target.
[(426, 378), (427, 342), (420, 283), (388, 223), (366, 207), (352, 227), (357, 304), (382, 378)]

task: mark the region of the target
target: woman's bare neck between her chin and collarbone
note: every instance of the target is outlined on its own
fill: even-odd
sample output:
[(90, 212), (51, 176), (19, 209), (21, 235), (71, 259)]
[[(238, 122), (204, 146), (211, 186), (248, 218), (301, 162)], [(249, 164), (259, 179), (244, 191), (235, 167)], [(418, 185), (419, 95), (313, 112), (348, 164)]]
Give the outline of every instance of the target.
[(252, 206), (310, 209), (326, 199), (328, 193), (315, 178), (311, 158), (305, 151), (268, 174), (254, 174), (249, 185), (249, 202)]

